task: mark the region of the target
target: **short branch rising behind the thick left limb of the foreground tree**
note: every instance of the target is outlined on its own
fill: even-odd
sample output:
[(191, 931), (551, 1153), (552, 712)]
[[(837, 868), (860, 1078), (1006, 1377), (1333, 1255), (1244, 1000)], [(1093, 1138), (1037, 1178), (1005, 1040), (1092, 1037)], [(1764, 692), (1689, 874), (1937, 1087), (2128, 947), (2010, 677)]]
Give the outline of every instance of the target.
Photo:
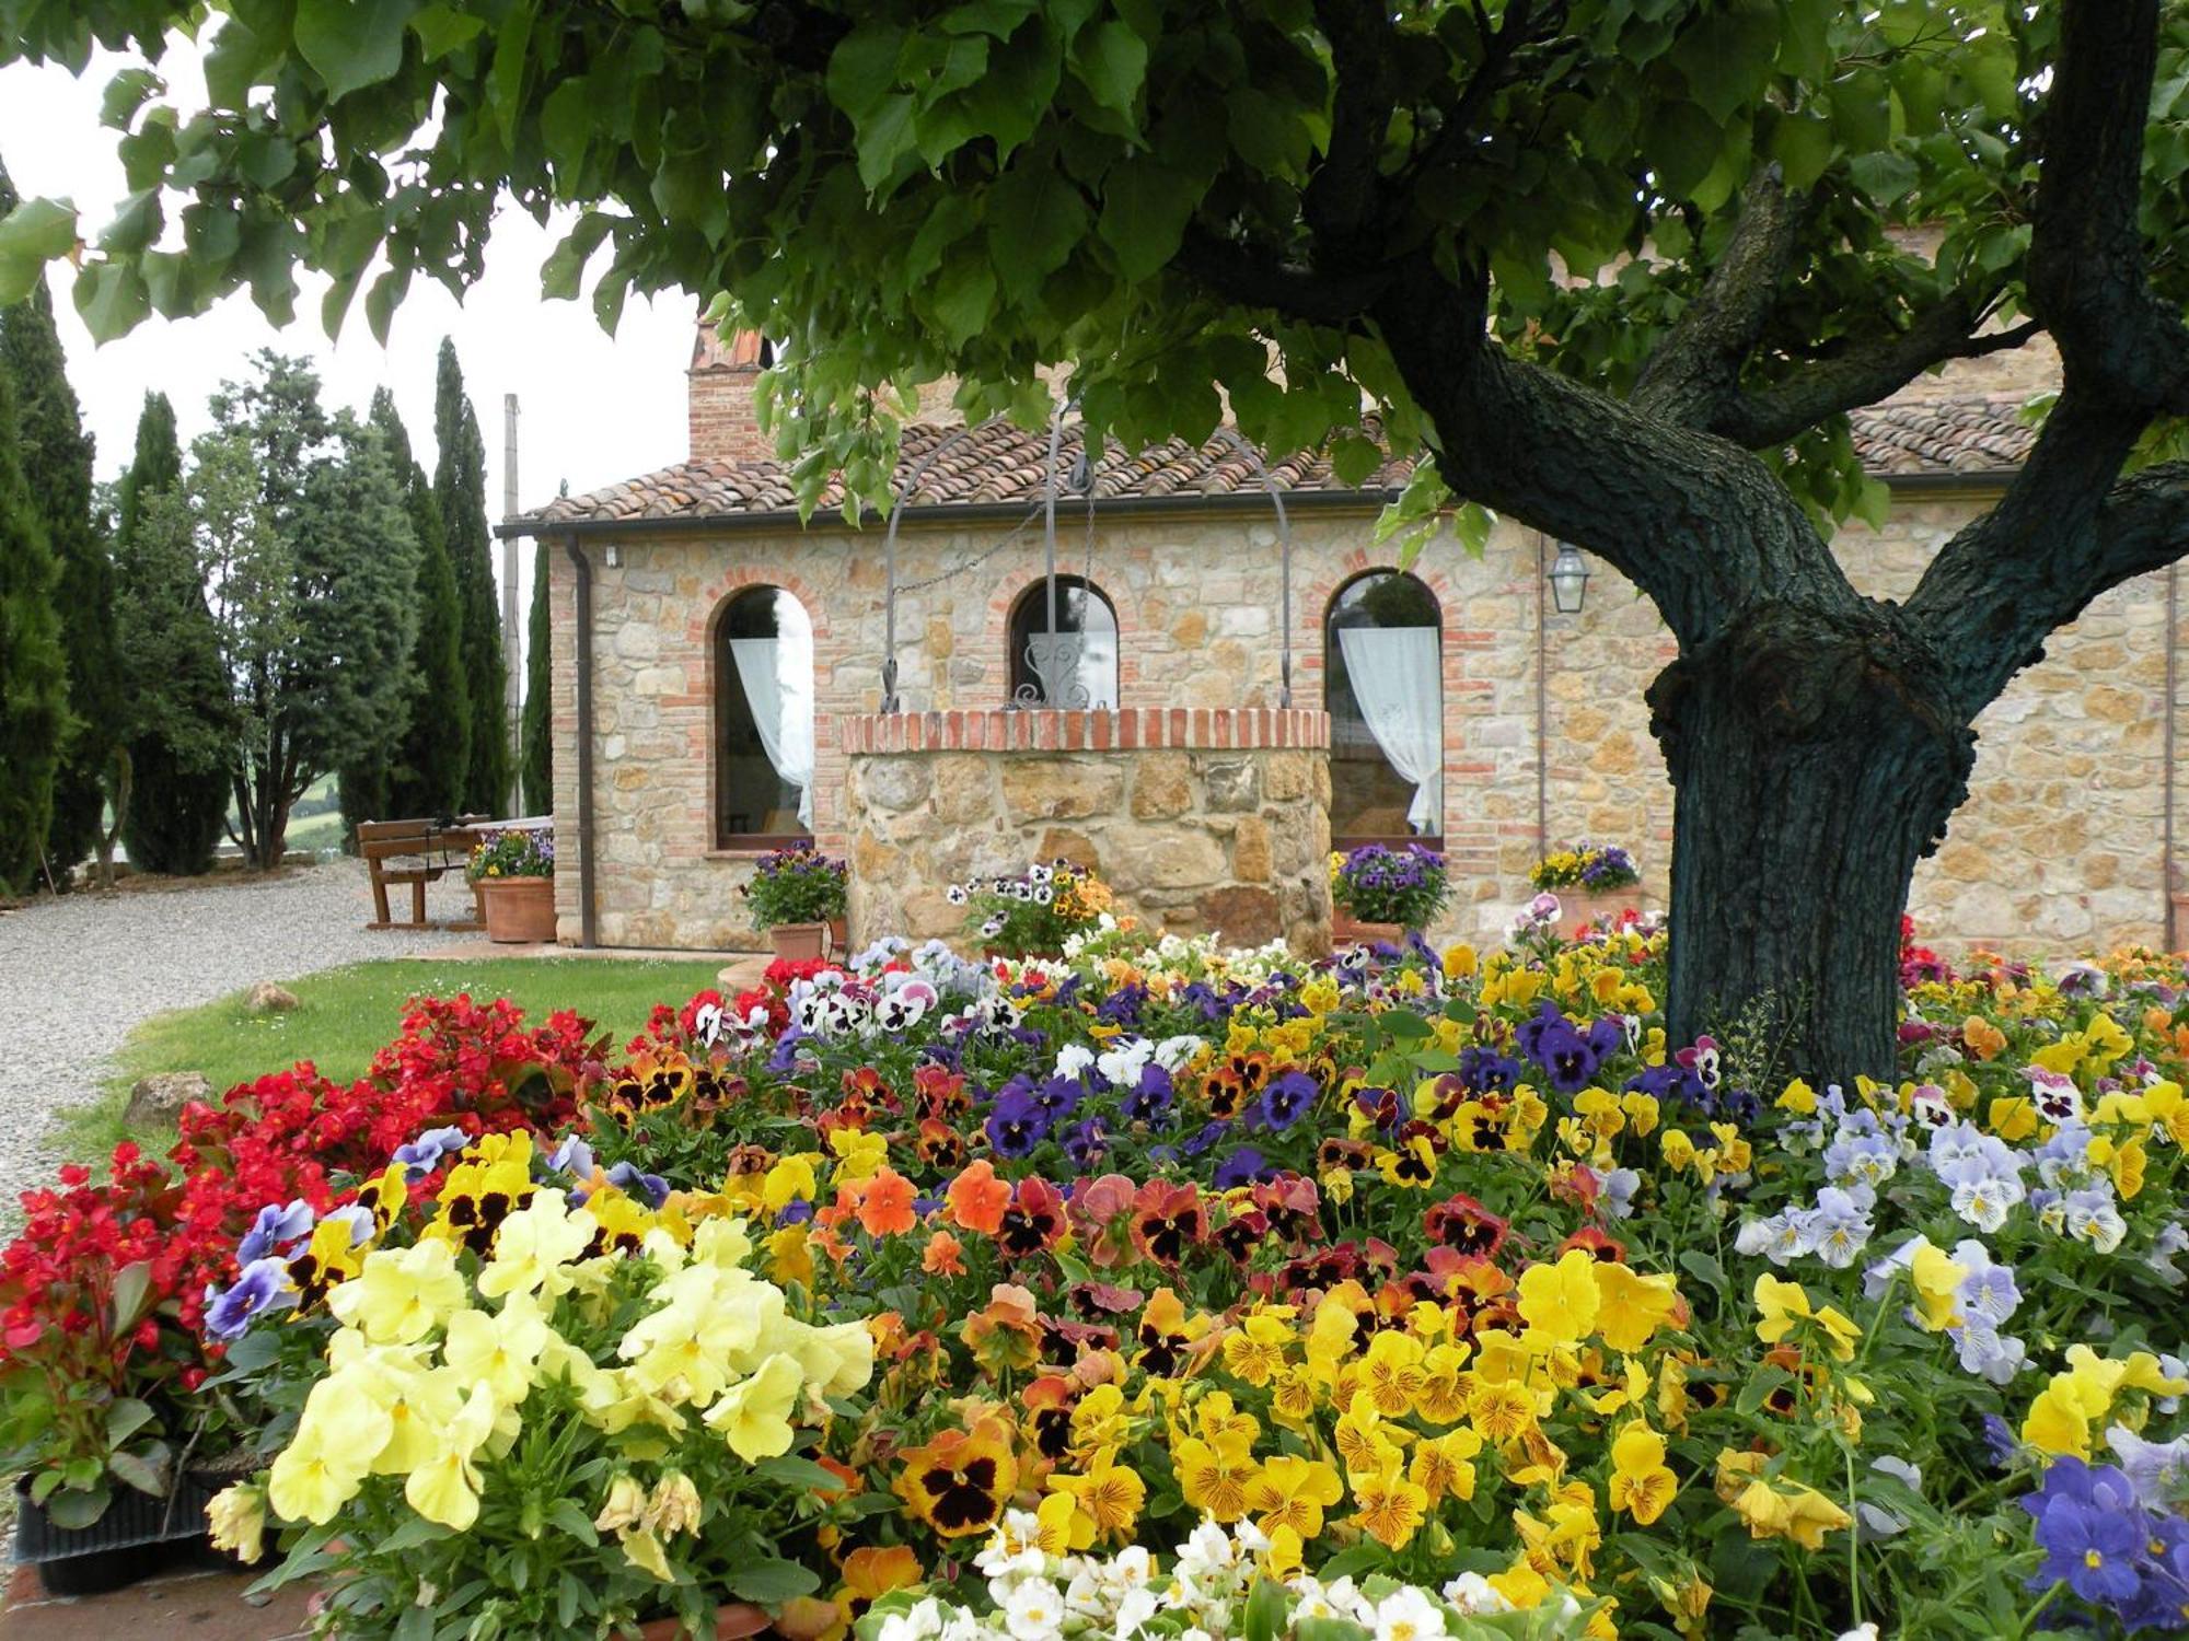
[(1749, 179), (1725, 256), (1642, 365), (1635, 409), (1688, 427), (1710, 427), (1718, 418), (1738, 394), (1740, 365), (1771, 319), (1806, 214), (1775, 164)]

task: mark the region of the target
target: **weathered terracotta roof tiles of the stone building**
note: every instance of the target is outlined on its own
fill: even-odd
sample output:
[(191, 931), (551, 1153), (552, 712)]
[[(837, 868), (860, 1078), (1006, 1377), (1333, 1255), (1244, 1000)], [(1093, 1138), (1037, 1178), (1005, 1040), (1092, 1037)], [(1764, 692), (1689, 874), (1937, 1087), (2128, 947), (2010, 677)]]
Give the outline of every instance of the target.
[[(2025, 427), (2018, 405), (1983, 398), (1909, 400), (1854, 414), (1854, 449), (1863, 466), (1883, 477), (1907, 475), (1996, 475), (2012, 470), (2029, 453), (2036, 429)], [(926, 466), (922, 466), (926, 464)], [(1079, 433), (1064, 435), (1057, 470), (1059, 501), (1079, 464)], [(908, 505), (954, 508), (983, 501), (1042, 499), (1049, 466), (1049, 433), (1029, 433), (1007, 422), (965, 431), (919, 422), (904, 429), (900, 475), (915, 475)], [(1364, 492), (1390, 492), (1405, 484), (1412, 464), (1386, 462)], [(1324, 455), (1298, 453), (1267, 464), (1270, 484), (1287, 494), (1346, 490)], [(1125, 453), (1105, 446), (1094, 464), (1097, 497), (1228, 497), (1263, 488), (1261, 462), (1230, 429), (1219, 429), (1195, 446), (1167, 440), (1149, 451)], [(843, 492), (832, 481), (821, 512), (838, 505)], [(781, 462), (681, 462), (582, 497), (560, 497), (530, 514), (538, 523), (624, 519), (731, 519), (788, 514), (797, 508)]]

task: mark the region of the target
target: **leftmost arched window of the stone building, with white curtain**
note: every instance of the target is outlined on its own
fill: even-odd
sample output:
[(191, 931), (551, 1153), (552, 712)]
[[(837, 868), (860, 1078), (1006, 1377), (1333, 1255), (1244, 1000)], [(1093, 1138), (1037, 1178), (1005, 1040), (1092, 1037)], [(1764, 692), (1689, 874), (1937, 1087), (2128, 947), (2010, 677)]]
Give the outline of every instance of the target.
[(725, 849), (810, 838), (814, 626), (779, 586), (749, 586), (716, 621), (714, 834)]

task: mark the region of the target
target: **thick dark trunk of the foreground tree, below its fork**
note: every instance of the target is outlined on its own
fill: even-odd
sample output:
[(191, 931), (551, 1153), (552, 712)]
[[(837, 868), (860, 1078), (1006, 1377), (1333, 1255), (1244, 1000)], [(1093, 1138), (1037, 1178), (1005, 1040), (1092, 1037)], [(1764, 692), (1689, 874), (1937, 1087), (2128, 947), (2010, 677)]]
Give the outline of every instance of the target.
[(1651, 685), (1675, 790), (1675, 1046), (1731, 1033), (1775, 1050), (1751, 1076), (1891, 1076), (1900, 912), (1974, 757), (1896, 615), (1762, 604)]

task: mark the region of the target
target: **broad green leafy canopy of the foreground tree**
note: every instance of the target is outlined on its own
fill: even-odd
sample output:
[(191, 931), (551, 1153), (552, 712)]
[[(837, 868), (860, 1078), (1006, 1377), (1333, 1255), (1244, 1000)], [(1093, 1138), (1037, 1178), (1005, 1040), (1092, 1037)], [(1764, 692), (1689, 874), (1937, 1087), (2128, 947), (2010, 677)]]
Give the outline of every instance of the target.
[[(74, 63), (92, 37), (155, 39), (186, 7), (11, 11), (18, 55)], [(1359, 269), (1414, 249), (1447, 276), (1486, 263), (1506, 346), (1611, 392), (1692, 302), (1760, 162), (1815, 208), (1749, 385), (1898, 333), (1946, 291), (2016, 311), (2053, 7), (1572, 0), (1552, 46), (1484, 72), (1504, 70), (1495, 28), (1519, 11), (1394, 9), (1388, 118), (1342, 155), (1333, 46), (1296, 0), (838, 0), (681, 20), (578, 0), (267, 0), (212, 33), (204, 114), (173, 109), (144, 70), (116, 81), (107, 118), (138, 193), (79, 306), (116, 328), (250, 287), (285, 317), (302, 263), (335, 278), (331, 322), (366, 289), (385, 328), (414, 271), (477, 278), (499, 190), (578, 206), (552, 293), (591, 276), (613, 324), (630, 291), (727, 291), (733, 324), (779, 339), (777, 405), (795, 414), (777, 427), (808, 499), (838, 466), (854, 497), (884, 492), (902, 389), (954, 376), (968, 414), (1033, 416), (1035, 368), (1066, 361), (1088, 420), (1125, 444), (1200, 438), (1221, 387), (1274, 451), (1364, 429), (1364, 394), (1383, 438), (1423, 446), (1373, 326), (1278, 322), (1204, 278), (1211, 238), (1302, 245), (1370, 177), (1394, 203), (1357, 225)], [(2165, 18), (2145, 193), (2161, 243), (2189, 199), (2189, 11), (2167, 0)], [(407, 144), (431, 153), (425, 171), (381, 160)], [(1329, 175), (1340, 164), (1362, 175)], [(151, 249), (177, 197), (188, 254)], [(1907, 223), (1944, 238), (1889, 238)], [(72, 238), (66, 210), (26, 208), (0, 228), (0, 289)], [(1554, 258), (1598, 282), (1552, 280)], [(2189, 295), (2182, 258), (2154, 276)], [(1784, 468), (1823, 521), (1867, 501), (1837, 416)]]

